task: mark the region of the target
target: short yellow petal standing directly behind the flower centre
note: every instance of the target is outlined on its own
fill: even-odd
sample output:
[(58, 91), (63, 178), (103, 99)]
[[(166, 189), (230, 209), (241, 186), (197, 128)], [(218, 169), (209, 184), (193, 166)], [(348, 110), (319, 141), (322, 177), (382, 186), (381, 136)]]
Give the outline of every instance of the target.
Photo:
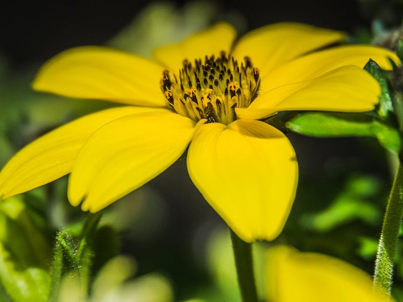
[(235, 36), (236, 31), (230, 24), (218, 23), (179, 43), (155, 49), (153, 56), (172, 72), (178, 72), (184, 59), (193, 62), (196, 58), (204, 59), (206, 55), (217, 56), (222, 50), (228, 54)]

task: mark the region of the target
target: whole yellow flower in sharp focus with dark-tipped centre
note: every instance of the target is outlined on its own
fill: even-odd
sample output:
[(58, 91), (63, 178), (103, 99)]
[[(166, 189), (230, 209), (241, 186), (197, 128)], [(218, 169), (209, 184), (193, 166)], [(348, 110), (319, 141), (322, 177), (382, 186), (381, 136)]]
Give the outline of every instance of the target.
[(387, 58), (398, 59), (373, 46), (323, 49), (344, 34), (304, 24), (265, 26), (234, 43), (235, 36), (217, 24), (155, 50), (155, 61), (104, 47), (52, 58), (35, 90), (130, 106), (85, 116), (23, 148), (0, 174), (0, 196), (71, 173), (71, 204), (99, 211), (189, 146), (190, 178), (230, 228), (246, 242), (276, 238), (298, 167), (286, 136), (259, 119), (284, 110), (372, 110), (380, 88), (362, 67), (372, 58), (390, 69)]

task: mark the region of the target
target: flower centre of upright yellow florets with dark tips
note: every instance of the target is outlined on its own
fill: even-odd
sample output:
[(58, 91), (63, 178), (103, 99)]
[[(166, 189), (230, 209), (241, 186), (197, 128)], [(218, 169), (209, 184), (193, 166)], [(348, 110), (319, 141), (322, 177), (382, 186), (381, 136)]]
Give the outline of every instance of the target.
[(235, 108), (246, 108), (256, 98), (260, 77), (249, 57), (239, 66), (224, 51), (219, 57), (206, 55), (194, 64), (185, 59), (179, 77), (163, 72), (161, 90), (180, 115), (208, 123), (229, 124), (237, 119)]

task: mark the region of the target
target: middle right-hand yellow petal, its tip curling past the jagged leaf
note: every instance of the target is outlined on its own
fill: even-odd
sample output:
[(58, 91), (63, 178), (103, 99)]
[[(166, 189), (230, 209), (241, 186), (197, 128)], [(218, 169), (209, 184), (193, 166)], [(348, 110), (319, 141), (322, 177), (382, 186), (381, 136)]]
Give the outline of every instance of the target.
[(307, 54), (262, 75), (261, 91), (268, 91), (283, 85), (298, 83), (319, 77), (333, 69), (354, 65), (363, 68), (373, 59), (383, 69), (391, 69), (388, 58), (397, 65), (400, 60), (388, 49), (370, 45), (345, 45)]

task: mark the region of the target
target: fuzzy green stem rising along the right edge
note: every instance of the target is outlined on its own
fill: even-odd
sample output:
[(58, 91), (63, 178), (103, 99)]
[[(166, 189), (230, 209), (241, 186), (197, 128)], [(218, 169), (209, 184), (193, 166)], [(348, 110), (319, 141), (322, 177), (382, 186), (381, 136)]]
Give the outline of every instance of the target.
[(392, 285), (394, 258), (402, 218), (403, 164), (400, 161), (383, 218), (375, 262), (374, 284), (386, 294), (390, 294)]

